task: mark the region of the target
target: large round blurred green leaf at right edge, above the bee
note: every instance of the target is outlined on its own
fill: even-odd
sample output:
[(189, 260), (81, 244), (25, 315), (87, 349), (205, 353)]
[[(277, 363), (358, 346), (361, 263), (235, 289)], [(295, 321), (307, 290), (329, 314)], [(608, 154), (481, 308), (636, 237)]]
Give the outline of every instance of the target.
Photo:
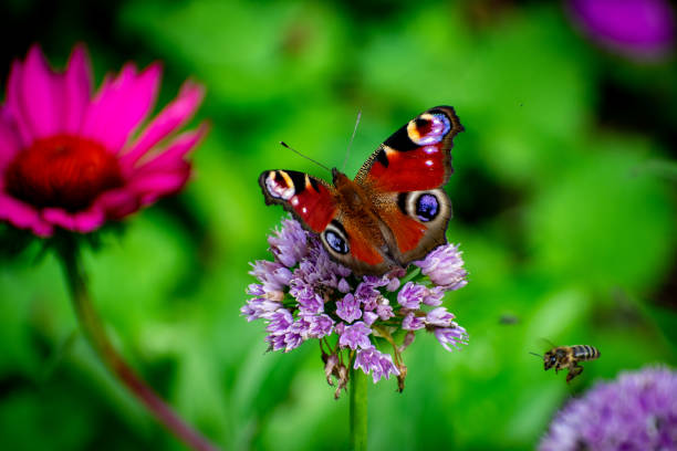
[(676, 212), (666, 187), (637, 174), (643, 147), (617, 138), (591, 144), (590, 157), (538, 193), (525, 232), (534, 268), (563, 282), (626, 290), (666, 274)]

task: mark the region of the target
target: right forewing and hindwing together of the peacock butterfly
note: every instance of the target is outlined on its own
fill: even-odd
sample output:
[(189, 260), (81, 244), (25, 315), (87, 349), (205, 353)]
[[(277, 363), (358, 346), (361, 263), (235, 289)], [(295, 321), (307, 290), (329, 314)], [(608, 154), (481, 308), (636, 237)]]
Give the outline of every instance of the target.
[(369, 192), (392, 232), (393, 254), (405, 266), (446, 242), (451, 201), (441, 187), (454, 171), (452, 139), (462, 129), (454, 108), (430, 108), (386, 139), (355, 178)]

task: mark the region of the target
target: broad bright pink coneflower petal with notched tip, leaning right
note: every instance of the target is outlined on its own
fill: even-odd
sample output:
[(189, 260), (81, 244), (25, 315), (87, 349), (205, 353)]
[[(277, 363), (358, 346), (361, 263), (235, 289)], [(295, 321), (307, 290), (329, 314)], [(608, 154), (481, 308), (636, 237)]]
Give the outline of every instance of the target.
[(133, 64), (126, 64), (117, 78), (104, 84), (90, 104), (82, 135), (117, 153), (155, 104), (160, 73), (159, 64), (149, 65), (138, 75)]

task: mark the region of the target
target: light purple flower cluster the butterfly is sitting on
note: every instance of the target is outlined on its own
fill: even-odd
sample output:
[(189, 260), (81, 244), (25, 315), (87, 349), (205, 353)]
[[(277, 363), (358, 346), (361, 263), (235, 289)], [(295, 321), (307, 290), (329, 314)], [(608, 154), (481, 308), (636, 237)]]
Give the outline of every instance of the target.
[[(344, 363), (371, 373), (374, 382), (397, 376), (402, 389), (406, 366), (400, 353), (415, 331), (434, 333), (447, 350), (467, 343), (466, 329), (440, 306), (447, 291), (467, 284), (458, 247), (435, 249), (409, 273), (356, 277), (294, 219), (284, 219), (268, 242), (274, 260), (252, 264), (250, 274), (259, 283), (247, 289), (251, 298), (241, 313), (247, 321), (265, 322), (270, 350), (290, 352), (317, 338), (327, 381), (336, 377), (337, 392), (347, 382)], [(405, 332), (399, 345), (398, 331)], [(392, 346), (393, 355), (377, 349), (377, 337)]]

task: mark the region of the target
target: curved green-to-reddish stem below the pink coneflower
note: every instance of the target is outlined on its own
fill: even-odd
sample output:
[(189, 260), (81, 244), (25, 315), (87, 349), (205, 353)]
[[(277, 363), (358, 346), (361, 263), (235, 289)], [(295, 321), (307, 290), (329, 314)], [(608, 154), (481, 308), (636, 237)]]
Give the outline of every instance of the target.
[(122, 382), (146, 409), (171, 431), (186, 445), (198, 451), (215, 451), (215, 448), (199, 432), (195, 431), (163, 399), (142, 380), (136, 373), (123, 360), (122, 356), (111, 344), (96, 314), (92, 300), (87, 293), (84, 271), (80, 264), (77, 244), (74, 241), (59, 247), (61, 263), (71, 292), (73, 307), (77, 314), (80, 326), (90, 340), (94, 352), (106, 365), (111, 373)]

